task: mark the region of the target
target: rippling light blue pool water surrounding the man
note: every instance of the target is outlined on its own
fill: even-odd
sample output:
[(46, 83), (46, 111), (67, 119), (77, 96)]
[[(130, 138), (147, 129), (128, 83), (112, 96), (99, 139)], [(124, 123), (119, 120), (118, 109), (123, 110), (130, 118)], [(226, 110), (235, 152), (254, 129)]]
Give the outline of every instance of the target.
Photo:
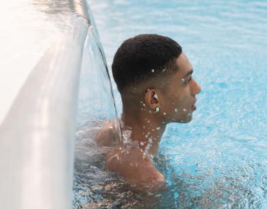
[[(168, 181), (164, 193), (141, 201), (94, 164), (83, 203), (101, 208), (112, 197), (110, 208), (267, 208), (267, 1), (88, 3), (109, 69), (123, 40), (162, 34), (183, 47), (202, 92), (192, 122), (168, 125), (162, 138), (156, 163)], [(115, 99), (121, 112), (116, 89)], [(105, 187), (114, 178), (116, 192)]]

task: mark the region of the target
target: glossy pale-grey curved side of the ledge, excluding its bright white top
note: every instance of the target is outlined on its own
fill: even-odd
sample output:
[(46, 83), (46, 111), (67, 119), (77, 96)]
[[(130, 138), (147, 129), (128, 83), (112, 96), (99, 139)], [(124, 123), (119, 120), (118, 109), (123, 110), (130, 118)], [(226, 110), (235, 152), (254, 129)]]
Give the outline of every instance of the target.
[(66, 5), (68, 27), (56, 25), (60, 38), (36, 62), (0, 126), (0, 208), (71, 208), (79, 71), (90, 21), (86, 3)]

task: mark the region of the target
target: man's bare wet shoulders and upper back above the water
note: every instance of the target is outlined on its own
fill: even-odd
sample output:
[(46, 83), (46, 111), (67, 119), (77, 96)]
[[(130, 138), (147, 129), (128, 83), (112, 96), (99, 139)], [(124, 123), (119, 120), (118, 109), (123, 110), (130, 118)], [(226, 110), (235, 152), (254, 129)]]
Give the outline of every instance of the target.
[(149, 190), (164, 188), (164, 175), (155, 169), (151, 159), (144, 155), (144, 151), (138, 146), (123, 149), (114, 144), (115, 137), (112, 122), (107, 121), (94, 138), (101, 147), (113, 147), (106, 156), (107, 169), (125, 177), (133, 186)]

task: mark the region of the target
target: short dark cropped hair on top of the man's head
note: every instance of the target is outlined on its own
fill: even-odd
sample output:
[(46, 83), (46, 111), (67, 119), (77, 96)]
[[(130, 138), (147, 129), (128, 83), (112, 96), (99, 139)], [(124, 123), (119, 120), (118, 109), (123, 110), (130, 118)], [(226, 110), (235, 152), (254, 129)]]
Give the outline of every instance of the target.
[(112, 63), (118, 90), (173, 73), (181, 51), (175, 40), (157, 34), (141, 34), (125, 40)]

